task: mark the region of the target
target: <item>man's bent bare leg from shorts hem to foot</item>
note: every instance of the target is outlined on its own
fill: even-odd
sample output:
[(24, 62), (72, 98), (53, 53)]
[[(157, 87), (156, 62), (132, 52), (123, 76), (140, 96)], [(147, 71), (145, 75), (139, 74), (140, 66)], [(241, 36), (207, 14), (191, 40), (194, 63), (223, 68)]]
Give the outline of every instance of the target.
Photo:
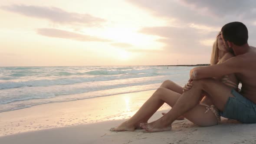
[(157, 121), (153, 121), (149, 124), (141, 124), (141, 127), (151, 132), (170, 127), (177, 117), (184, 115), (198, 104), (202, 91), (209, 94), (213, 104), (216, 105), (220, 111), (224, 110), (228, 98), (233, 97), (230, 93), (231, 88), (213, 79), (200, 79), (193, 81), (192, 84), (192, 88), (180, 96), (174, 107), (167, 114)]

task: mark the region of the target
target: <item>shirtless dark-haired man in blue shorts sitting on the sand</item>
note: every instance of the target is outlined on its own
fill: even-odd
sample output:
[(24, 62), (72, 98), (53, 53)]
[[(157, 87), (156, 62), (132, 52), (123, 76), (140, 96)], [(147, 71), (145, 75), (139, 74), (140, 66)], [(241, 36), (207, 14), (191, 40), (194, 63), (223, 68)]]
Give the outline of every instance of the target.
[[(248, 30), (243, 23), (227, 23), (221, 31), (222, 39), (236, 56), (219, 65), (192, 69), (192, 88), (181, 95), (168, 113), (157, 121), (141, 123), (142, 128), (149, 132), (170, 129), (173, 121), (198, 104), (202, 91), (209, 94), (221, 116), (243, 123), (256, 123), (256, 49), (248, 45)], [(211, 79), (231, 73), (236, 73), (237, 79), (242, 83), (240, 93)]]

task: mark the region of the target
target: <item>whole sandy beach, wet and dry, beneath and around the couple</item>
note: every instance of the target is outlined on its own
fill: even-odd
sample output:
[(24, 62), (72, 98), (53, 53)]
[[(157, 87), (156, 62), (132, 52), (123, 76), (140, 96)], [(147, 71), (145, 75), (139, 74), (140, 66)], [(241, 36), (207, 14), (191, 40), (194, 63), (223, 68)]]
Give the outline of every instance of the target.
[[(1, 144), (256, 144), (256, 124), (223, 119), (213, 127), (175, 121), (172, 131), (112, 132), (154, 91), (36, 105), (0, 113)], [(170, 109), (163, 105), (149, 121)]]

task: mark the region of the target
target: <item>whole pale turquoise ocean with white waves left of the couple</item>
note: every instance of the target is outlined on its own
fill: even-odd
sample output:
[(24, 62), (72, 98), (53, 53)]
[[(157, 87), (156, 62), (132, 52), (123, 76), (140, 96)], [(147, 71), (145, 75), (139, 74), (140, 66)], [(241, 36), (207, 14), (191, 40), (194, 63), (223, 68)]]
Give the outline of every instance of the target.
[(0, 67), (0, 112), (185, 85), (192, 66)]

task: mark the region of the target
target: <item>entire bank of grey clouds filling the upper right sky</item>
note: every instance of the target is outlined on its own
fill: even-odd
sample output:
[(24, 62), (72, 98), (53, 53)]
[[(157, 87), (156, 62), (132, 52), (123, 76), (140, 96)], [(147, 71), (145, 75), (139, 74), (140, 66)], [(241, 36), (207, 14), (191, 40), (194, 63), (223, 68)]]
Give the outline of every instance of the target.
[[(255, 0), (127, 0), (167, 21), (166, 26), (145, 27), (139, 32), (162, 37), (164, 52), (210, 54), (221, 27), (242, 21), (249, 29), (249, 43), (255, 45)], [(251, 39), (251, 40), (250, 40)]]

